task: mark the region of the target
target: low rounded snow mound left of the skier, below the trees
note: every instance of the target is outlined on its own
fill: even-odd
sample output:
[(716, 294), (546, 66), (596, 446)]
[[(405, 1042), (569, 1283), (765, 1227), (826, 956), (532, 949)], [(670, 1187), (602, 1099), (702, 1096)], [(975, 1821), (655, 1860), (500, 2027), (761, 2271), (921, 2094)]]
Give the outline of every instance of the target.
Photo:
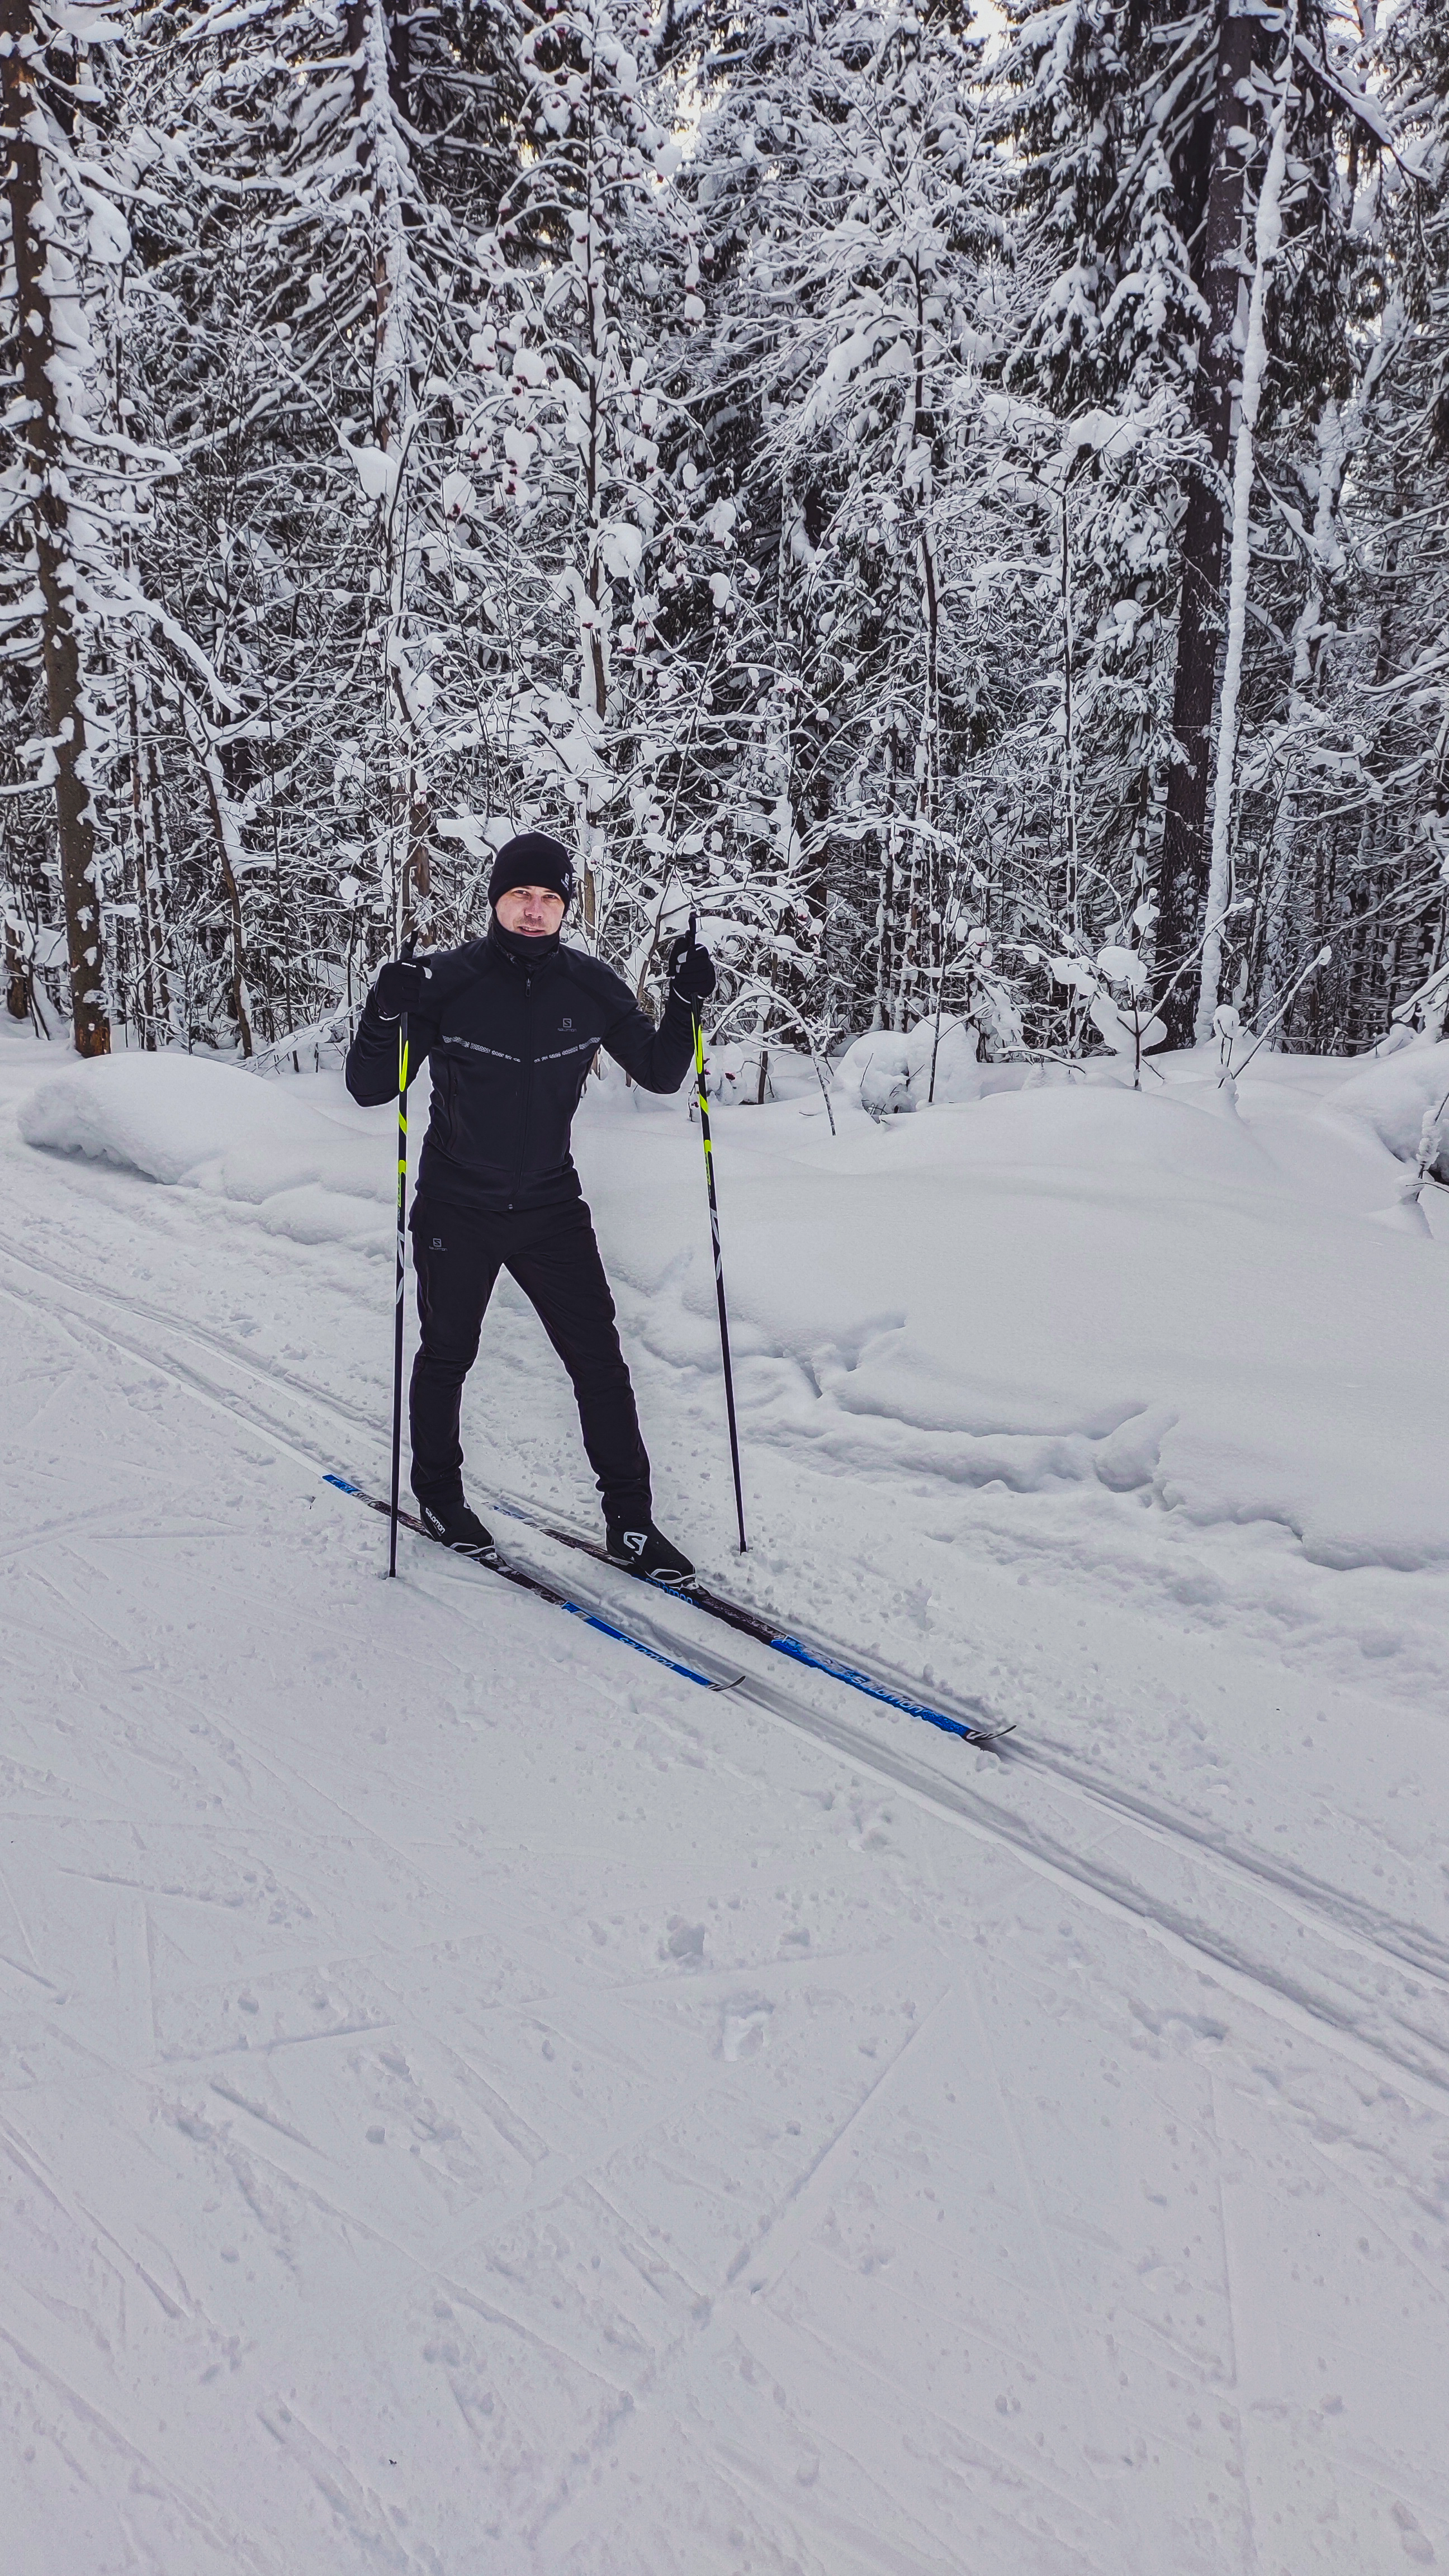
[(340, 1126), (209, 1056), (103, 1056), (41, 1082), (18, 1110), (21, 1136), (52, 1154), (85, 1154), (168, 1188), (211, 1190), (258, 1211), (297, 1242), (379, 1236), (394, 1170), (384, 1136)]

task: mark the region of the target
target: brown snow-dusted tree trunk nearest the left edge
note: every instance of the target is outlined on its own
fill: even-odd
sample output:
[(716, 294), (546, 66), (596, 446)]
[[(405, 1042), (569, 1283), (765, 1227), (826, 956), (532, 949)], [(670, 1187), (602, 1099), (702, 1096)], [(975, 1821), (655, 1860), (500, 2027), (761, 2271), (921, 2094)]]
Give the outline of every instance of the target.
[[(64, 938), (70, 951), (70, 999), (75, 1051), (111, 1054), (111, 1023), (101, 976), (101, 889), (95, 871), (95, 806), (90, 801), (90, 760), (85, 747), (85, 688), (80, 670), (80, 626), (75, 613), (75, 562), (70, 544), (70, 497), (64, 438), (57, 392), (57, 335), (52, 296), (49, 224), (41, 147), (36, 126), (41, 106), (31, 72), (39, 33), (28, 0), (0, 0), (0, 95), (5, 124), (5, 204), (15, 258), (15, 340), (21, 350), (21, 389), (26, 420), (18, 440), (26, 459), (31, 528), (36, 536), (36, 585), (41, 592), (41, 665), (46, 680), (49, 752), (54, 762), (54, 814), (59, 842), (59, 884), (64, 899)], [(31, 54), (23, 54), (28, 46)]]

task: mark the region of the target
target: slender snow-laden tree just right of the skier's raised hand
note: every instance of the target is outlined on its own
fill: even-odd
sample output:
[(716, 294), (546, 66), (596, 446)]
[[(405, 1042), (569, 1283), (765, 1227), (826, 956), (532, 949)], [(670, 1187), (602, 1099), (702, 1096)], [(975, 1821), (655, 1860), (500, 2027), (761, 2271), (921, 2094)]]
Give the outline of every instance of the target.
[(820, 1025), (895, 1028), (969, 927), (982, 670), (959, 544), (1003, 273), (980, 57), (951, 8), (717, 13), (704, 33), (704, 399), (758, 582), (737, 806), (802, 878)]

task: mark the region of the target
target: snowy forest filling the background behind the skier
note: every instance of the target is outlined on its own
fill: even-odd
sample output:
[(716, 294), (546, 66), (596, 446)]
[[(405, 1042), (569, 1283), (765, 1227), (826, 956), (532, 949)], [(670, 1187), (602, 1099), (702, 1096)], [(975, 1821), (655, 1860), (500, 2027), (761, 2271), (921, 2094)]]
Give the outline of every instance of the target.
[(645, 999), (701, 914), (761, 1097), (1441, 1033), (1441, 0), (0, 31), (36, 1036), (345, 1036), (529, 824)]

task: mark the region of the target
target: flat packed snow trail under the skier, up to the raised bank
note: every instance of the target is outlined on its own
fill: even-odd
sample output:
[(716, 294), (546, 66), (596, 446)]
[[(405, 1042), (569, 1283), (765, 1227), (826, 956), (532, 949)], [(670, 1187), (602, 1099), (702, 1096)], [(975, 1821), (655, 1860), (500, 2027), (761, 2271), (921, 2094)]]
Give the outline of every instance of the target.
[[(1243, 1631), (1173, 1628), (1114, 1497), (1116, 1579), (1042, 1502), (946, 1556), (908, 1476), (892, 1558), (784, 1450), (753, 1579), (838, 1558), (1029, 1762), (387, 1584), (294, 1455), (376, 1468), (382, 1270), (0, 1175), (21, 2576), (1449, 2563), (1436, 1708), (1271, 1659), (1243, 1533)], [(578, 1512), (511, 1301), (490, 1363)], [(678, 1473), (688, 1370), (642, 1399)]]

